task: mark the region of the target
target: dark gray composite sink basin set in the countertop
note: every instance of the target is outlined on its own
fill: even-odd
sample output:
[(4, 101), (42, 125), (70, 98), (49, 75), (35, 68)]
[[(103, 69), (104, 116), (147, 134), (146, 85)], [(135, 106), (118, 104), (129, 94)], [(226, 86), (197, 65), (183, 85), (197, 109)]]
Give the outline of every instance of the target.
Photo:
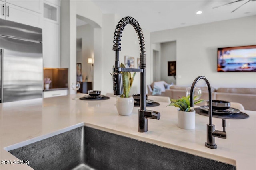
[(35, 170), (235, 170), (236, 166), (82, 126), (9, 151)]

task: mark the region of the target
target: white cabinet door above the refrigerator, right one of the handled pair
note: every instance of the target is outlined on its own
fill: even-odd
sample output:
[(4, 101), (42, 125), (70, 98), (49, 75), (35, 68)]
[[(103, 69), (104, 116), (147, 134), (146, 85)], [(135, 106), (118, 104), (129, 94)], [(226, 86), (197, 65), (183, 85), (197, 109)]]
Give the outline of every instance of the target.
[(42, 27), (41, 14), (9, 3), (6, 3), (6, 20), (31, 25), (34, 27)]

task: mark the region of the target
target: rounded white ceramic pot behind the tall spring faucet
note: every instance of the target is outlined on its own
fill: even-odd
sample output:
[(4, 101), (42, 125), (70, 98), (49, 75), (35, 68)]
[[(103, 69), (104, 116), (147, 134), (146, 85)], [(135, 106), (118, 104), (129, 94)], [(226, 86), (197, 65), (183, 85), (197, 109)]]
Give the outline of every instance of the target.
[(121, 98), (120, 96), (116, 97), (116, 109), (119, 115), (127, 116), (132, 113), (134, 107), (133, 97)]

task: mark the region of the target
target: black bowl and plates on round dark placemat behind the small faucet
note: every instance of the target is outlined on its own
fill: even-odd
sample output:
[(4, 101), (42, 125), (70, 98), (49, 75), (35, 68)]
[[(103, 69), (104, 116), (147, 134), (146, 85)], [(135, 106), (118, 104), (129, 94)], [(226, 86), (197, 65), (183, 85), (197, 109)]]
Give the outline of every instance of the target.
[[(206, 101), (207, 105), (196, 108), (196, 113), (208, 116), (209, 100)], [(223, 100), (212, 100), (212, 117), (225, 118), (225, 119), (245, 119), (249, 117), (246, 113), (241, 112), (239, 109), (230, 107), (230, 102)]]

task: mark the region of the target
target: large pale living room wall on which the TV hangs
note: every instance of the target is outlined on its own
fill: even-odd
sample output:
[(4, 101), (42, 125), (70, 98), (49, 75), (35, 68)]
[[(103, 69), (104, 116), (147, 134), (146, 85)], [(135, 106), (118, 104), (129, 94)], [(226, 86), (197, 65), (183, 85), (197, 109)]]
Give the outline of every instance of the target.
[(176, 41), (177, 85), (190, 86), (204, 75), (214, 88), (256, 87), (255, 72), (216, 72), (218, 47), (256, 44), (256, 16), (157, 31), (150, 37), (151, 43)]

